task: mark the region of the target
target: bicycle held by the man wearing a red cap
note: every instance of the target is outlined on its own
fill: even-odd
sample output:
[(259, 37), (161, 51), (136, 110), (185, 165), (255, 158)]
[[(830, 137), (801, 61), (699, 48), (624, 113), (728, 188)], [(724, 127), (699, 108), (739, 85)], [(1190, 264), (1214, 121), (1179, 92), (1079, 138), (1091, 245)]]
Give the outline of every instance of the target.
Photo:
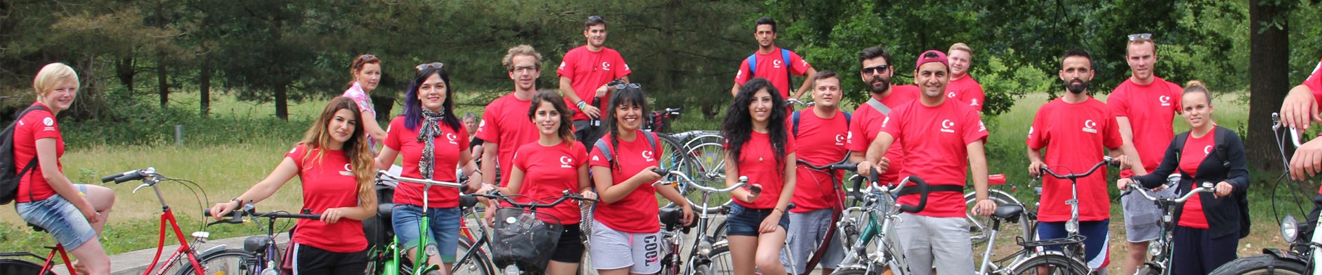
[[(876, 169), (871, 172), (871, 176), (867, 177), (867, 189), (858, 193), (863, 206), (847, 208), (843, 213), (845, 217), (851, 217), (850, 212), (863, 212), (863, 229), (859, 231), (858, 239), (845, 251), (845, 260), (832, 272), (833, 275), (883, 274), (886, 271), (891, 274), (910, 272), (903, 247), (899, 243), (894, 243), (895, 221), (899, 219), (900, 213), (919, 213), (927, 208), (928, 184), (917, 176), (908, 176), (894, 186), (883, 186), (878, 184), (876, 176), (879, 173)], [(914, 182), (912, 188), (917, 188), (919, 190), (917, 205), (904, 205), (896, 201), (900, 192), (911, 188), (910, 182)], [(858, 185), (855, 182), (855, 186)], [(873, 241), (876, 241), (876, 243), (873, 243)], [(875, 246), (875, 249), (867, 251), (869, 246)]]

